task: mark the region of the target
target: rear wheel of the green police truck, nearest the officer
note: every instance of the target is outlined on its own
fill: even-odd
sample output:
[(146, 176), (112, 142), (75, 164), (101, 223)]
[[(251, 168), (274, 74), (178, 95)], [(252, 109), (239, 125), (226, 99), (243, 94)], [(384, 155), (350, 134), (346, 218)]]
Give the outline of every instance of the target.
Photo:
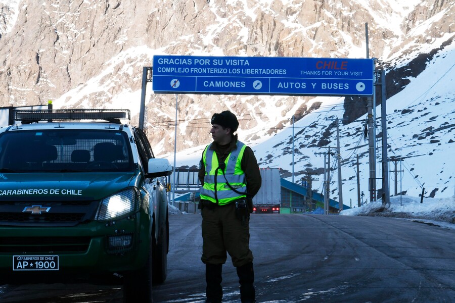
[[(160, 227), (158, 241), (153, 245), (153, 284), (160, 284), (167, 276), (167, 251), (169, 246), (169, 214), (166, 209), (166, 220), (164, 226)], [(152, 242), (155, 244), (155, 241)]]

